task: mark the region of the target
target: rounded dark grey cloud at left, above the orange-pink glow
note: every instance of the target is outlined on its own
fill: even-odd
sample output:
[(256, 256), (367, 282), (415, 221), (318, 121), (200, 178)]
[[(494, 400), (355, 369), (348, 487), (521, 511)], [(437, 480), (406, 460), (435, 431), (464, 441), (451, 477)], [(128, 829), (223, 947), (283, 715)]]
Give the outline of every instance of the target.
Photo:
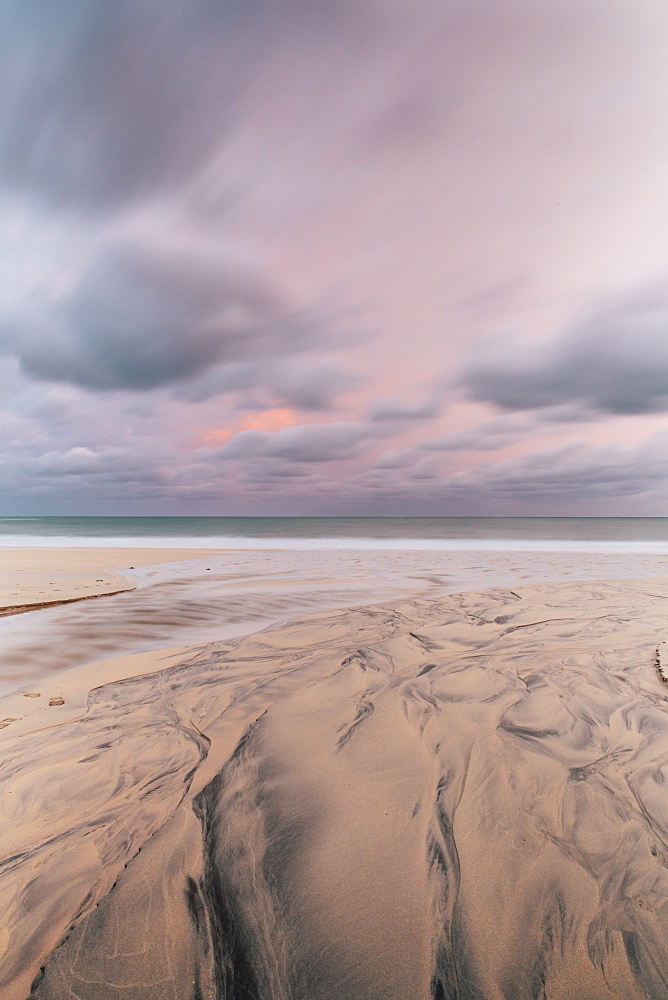
[(5, 353), (33, 377), (89, 389), (145, 390), (316, 339), (260, 280), (133, 247), (96, 261), (45, 327), (0, 331)]

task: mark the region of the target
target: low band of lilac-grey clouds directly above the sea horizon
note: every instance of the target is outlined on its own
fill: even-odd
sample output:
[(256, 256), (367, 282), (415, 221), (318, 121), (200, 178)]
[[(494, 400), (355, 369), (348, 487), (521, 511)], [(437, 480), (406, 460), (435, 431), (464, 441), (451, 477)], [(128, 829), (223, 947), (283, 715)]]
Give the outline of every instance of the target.
[[(31, 440), (29, 427), (25, 432), (18, 453), (0, 456), (7, 504), (23, 497), (16, 500), (17, 512), (34, 498), (57, 513), (58, 498), (65, 497), (77, 509), (99, 513), (112, 502), (119, 512), (140, 511), (150, 502), (165, 513), (182, 503), (215, 513), (223, 498), (230, 510), (260, 514), (275, 512), (277, 505), (289, 513), (291, 504), (312, 513), (584, 515), (644, 508), (651, 514), (664, 509), (668, 497), (665, 433), (633, 446), (573, 442), (534, 449), (456, 472), (441, 469), (439, 456), (425, 459), (417, 448), (394, 456), (399, 461), (390, 455), (375, 468), (365, 467), (377, 441), (364, 424), (247, 431), (217, 451), (195, 453), (151, 434), (96, 441), (93, 427), (86, 443), (70, 438), (45, 445)], [(362, 462), (353, 462), (342, 477), (332, 463), (349, 459)]]

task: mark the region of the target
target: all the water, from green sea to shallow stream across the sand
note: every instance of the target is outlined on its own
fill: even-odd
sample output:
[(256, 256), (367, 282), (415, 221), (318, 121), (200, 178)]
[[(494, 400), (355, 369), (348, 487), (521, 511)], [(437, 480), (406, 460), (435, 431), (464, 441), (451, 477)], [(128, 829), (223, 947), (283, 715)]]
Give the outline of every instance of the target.
[(121, 570), (133, 591), (0, 618), (0, 693), (83, 663), (319, 611), (550, 580), (668, 577), (668, 518), (0, 518), (5, 567), (13, 548), (76, 546), (191, 551)]

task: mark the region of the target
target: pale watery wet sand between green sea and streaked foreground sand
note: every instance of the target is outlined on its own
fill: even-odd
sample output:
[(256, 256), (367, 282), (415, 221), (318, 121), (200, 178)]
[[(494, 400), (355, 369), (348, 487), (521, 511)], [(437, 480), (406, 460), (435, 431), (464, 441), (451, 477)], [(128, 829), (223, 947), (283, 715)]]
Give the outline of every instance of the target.
[[(247, 635), (315, 611), (551, 579), (668, 576), (662, 555), (520, 550), (0, 549), (3, 565), (8, 585), (23, 581), (24, 600), (46, 595), (56, 606), (0, 611), (0, 696), (44, 675), (57, 684), (73, 666)], [(100, 586), (109, 571), (128, 589), (58, 603), (67, 574)], [(41, 581), (32, 594), (28, 572)], [(0, 589), (0, 608), (1, 597)]]

